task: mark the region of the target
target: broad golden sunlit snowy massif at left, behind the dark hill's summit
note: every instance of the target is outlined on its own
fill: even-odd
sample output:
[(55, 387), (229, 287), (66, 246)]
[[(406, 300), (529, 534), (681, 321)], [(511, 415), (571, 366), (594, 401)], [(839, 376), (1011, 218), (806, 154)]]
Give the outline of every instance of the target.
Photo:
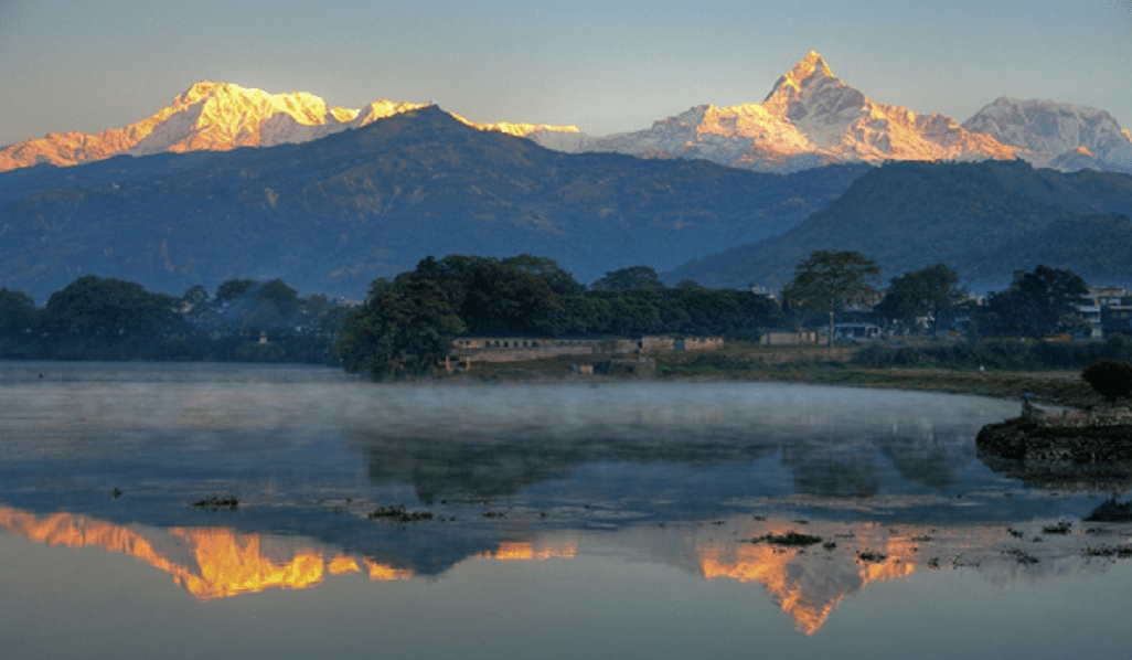
[[(379, 100), (361, 109), (327, 108), (323, 98), (305, 92), (269, 94), (229, 83), (201, 82), (177, 96), (168, 108), (137, 123), (97, 135), (53, 132), (5, 147), (0, 149), (0, 171), (40, 163), (76, 165), (118, 154), (229, 151), (303, 143), (426, 105)], [(577, 134), (572, 126), (487, 125), (454, 117), (475, 128), (515, 136), (538, 131), (547, 140), (559, 134)]]

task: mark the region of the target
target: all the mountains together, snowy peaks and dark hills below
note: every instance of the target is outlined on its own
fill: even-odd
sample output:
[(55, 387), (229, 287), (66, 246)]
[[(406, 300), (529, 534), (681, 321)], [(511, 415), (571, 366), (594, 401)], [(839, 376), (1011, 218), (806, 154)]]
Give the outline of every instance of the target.
[(1039, 263), (1132, 283), (1130, 156), (1100, 110), (1003, 97), (959, 125), (875, 103), (813, 52), (762, 103), (603, 138), (200, 83), (139, 123), (0, 149), (0, 286), (283, 277), (359, 298), (453, 252), (780, 285), (813, 249), (886, 277), (943, 262), (972, 288)]

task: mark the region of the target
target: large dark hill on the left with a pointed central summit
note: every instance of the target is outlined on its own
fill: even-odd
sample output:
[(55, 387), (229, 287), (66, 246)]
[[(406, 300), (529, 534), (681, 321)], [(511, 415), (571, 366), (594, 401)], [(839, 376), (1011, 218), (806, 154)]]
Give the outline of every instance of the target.
[(0, 174), (0, 286), (42, 299), (86, 274), (178, 294), (282, 277), (361, 297), (451, 252), (542, 255), (590, 281), (786, 231), (865, 169), (560, 154), (431, 106), (300, 145)]

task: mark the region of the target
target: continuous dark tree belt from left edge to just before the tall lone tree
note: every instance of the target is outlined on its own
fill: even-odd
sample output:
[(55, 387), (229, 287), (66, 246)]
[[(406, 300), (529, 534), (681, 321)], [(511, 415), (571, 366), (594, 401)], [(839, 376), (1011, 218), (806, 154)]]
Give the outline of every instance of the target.
[(344, 365), (370, 376), (431, 369), (460, 334), (681, 333), (757, 340), (778, 305), (694, 282), (668, 288), (646, 266), (589, 288), (554, 259), (449, 255), (371, 283), (360, 307), (300, 297), (282, 280), (229, 280), (181, 297), (79, 277), (37, 308), (0, 289), (0, 359), (180, 360)]

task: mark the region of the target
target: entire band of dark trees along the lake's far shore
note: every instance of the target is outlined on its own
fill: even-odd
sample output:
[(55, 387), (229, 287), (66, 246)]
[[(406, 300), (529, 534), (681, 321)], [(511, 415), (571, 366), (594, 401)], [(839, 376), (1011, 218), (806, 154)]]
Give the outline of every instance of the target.
[[(197, 285), (178, 298), (87, 275), (53, 293), (42, 309), (24, 292), (0, 289), (0, 358), (341, 363), (384, 378), (430, 370), (461, 334), (756, 341), (765, 328), (829, 325), (832, 331), (835, 319), (851, 312), (890, 328), (931, 333), (966, 317), (975, 345), (983, 336), (1037, 337), (1088, 326), (1077, 310), (1088, 289), (1070, 271), (1038, 266), (984, 305), (975, 305), (944, 264), (892, 277), (883, 291), (880, 273), (858, 252), (817, 250), (799, 262), (779, 303), (692, 281), (666, 286), (646, 266), (608, 272), (588, 288), (546, 257), (449, 255), (372, 282), (358, 307), (300, 297), (282, 280), (229, 280), (212, 295)], [(868, 360), (880, 366), (975, 359), (970, 352), (882, 352), (874, 350)], [(1000, 361), (984, 358), (988, 367)]]

